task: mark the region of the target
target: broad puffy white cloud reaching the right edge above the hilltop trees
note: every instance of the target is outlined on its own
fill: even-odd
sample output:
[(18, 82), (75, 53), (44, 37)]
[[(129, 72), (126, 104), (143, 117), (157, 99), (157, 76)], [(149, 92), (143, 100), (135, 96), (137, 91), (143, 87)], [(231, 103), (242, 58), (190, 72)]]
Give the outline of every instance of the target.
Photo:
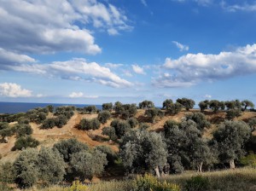
[[(177, 60), (166, 58), (165, 73), (153, 79), (159, 87), (178, 87), (256, 72), (256, 44), (218, 55), (188, 54)], [(166, 73), (168, 70), (168, 73)]]

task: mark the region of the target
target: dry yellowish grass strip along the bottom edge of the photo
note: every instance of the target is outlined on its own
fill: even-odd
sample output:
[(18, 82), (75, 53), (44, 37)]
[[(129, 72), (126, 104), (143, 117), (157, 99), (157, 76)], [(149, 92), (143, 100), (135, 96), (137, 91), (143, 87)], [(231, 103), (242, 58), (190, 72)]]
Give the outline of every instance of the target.
[[(192, 171), (185, 172), (181, 175), (167, 176), (161, 179), (166, 182), (176, 183), (182, 190), (185, 189), (186, 182), (191, 178), (200, 175), (207, 177), (209, 180), (209, 187), (207, 190), (211, 191), (256, 191), (256, 169), (241, 168), (236, 170), (226, 171), (211, 171), (203, 173), (195, 173)], [(131, 191), (132, 181), (111, 181), (99, 182), (88, 185), (86, 191)], [(52, 186), (49, 188), (31, 188), (26, 191), (71, 191), (71, 188), (63, 186)]]

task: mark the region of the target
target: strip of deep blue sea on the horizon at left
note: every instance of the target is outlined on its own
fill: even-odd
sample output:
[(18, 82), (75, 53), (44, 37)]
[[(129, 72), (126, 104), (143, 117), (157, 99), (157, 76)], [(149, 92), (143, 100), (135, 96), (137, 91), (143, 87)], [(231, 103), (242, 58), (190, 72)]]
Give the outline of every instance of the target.
[[(26, 113), (28, 110), (36, 107), (46, 107), (52, 105), (53, 107), (74, 106), (87, 107), (90, 104), (67, 104), (67, 103), (26, 103), (26, 102), (2, 102), (0, 101), (0, 113)], [(102, 105), (95, 105), (97, 109), (102, 109)]]

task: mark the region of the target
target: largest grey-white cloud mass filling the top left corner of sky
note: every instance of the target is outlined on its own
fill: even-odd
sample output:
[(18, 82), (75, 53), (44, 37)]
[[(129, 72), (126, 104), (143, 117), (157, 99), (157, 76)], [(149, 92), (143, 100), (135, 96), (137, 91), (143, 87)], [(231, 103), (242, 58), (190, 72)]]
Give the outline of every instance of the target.
[(55, 53), (79, 51), (95, 55), (91, 27), (109, 34), (131, 30), (122, 10), (96, 0), (0, 0), (0, 47), (10, 51)]

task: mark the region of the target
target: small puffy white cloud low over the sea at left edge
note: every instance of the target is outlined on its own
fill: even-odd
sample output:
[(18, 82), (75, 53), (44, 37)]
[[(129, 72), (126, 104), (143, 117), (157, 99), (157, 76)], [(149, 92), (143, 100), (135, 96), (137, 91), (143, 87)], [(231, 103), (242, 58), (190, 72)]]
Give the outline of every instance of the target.
[(31, 97), (32, 90), (22, 89), (19, 84), (15, 84), (15, 83), (3, 83), (3, 84), (0, 84), (0, 96)]

